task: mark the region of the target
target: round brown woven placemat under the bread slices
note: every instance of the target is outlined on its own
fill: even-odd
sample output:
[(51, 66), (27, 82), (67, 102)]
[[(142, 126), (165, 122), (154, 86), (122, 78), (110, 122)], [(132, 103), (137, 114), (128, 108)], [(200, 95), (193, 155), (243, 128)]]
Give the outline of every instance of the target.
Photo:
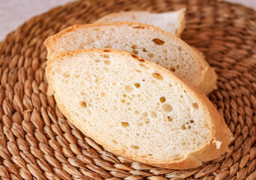
[[(189, 170), (160, 169), (119, 157), (77, 130), (47, 95), (46, 37), (119, 10), (187, 8), (182, 39), (218, 73), (209, 99), (235, 135), (230, 152)], [(76, 1), (34, 17), (0, 44), (2, 179), (256, 178), (256, 12), (214, 0)]]

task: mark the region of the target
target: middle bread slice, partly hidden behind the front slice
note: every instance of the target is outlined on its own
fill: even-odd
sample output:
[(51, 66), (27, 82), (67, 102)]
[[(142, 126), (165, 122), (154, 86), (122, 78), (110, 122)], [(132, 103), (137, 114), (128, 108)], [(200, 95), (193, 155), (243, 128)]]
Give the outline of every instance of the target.
[(180, 77), (198, 86), (206, 95), (216, 84), (213, 68), (197, 50), (155, 26), (122, 22), (77, 25), (48, 37), (47, 58), (73, 49), (113, 48), (140, 55), (151, 62), (175, 71)]

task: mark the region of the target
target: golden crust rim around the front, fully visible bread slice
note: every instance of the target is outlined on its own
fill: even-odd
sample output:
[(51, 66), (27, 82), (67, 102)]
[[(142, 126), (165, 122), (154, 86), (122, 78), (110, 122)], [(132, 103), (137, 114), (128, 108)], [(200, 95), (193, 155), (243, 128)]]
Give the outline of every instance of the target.
[[(99, 52), (101, 53), (104, 49), (80, 49), (80, 50), (74, 50), (71, 52), (61, 52), (59, 55), (56, 55), (56, 57), (52, 58), (50, 61), (47, 62), (47, 68), (46, 68), (46, 75), (48, 83), (50, 83), (50, 86), (55, 87), (53, 80), (50, 77), (50, 71), (53, 66), (53, 62), (55, 61), (61, 61), (63, 57), (71, 57), (72, 55), (75, 55), (80, 52), (86, 52), (86, 53), (92, 53), (92, 52)], [(111, 53), (122, 53), (122, 55), (131, 55), (130, 52), (120, 51), (116, 49), (111, 49)], [(134, 59), (134, 61), (137, 61)], [(174, 81), (177, 83), (184, 84), (184, 89), (187, 92), (190, 92), (191, 95), (194, 95), (195, 98), (197, 98), (201, 104), (203, 105), (203, 110), (208, 115), (209, 124), (211, 128), (211, 133), (209, 134), (209, 137), (207, 139), (206, 144), (200, 145), (197, 149), (194, 149), (194, 151), (188, 152), (184, 157), (182, 157), (179, 160), (168, 160), (168, 159), (159, 159), (159, 160), (149, 160), (146, 157), (137, 157), (133, 156), (131, 154), (127, 154), (125, 151), (119, 151), (116, 150), (115, 147), (108, 145), (106, 142), (104, 142), (104, 139), (101, 139), (98, 134), (88, 133), (86, 132), (85, 128), (83, 127), (83, 124), (81, 124), (79, 121), (76, 121), (76, 119), (73, 119), (71, 115), (68, 113), (67, 110), (65, 110), (64, 104), (62, 104), (62, 97), (59, 97), (58, 93), (55, 94), (56, 102), (59, 106), (59, 109), (62, 111), (62, 113), (73, 123), (77, 128), (79, 128), (83, 133), (86, 133), (86, 135), (90, 136), (92, 139), (95, 140), (95, 142), (98, 142), (99, 144), (103, 145), (104, 148), (107, 148), (110, 151), (114, 151), (117, 154), (120, 154), (124, 157), (131, 158), (133, 160), (140, 161), (142, 163), (148, 163), (154, 166), (159, 166), (163, 168), (170, 168), (170, 169), (190, 169), (195, 168), (197, 166), (202, 165), (203, 162), (213, 160), (217, 157), (220, 157), (221, 154), (224, 154), (225, 151), (228, 151), (228, 145), (233, 140), (233, 135), (230, 132), (230, 130), (227, 127), (227, 124), (224, 122), (224, 118), (221, 117), (221, 115), (218, 113), (218, 110), (215, 109), (213, 104), (209, 101), (209, 99), (206, 97), (206, 95), (203, 94), (199, 89), (197, 89), (196, 86), (192, 85), (191, 83), (188, 83), (185, 80), (182, 80), (179, 78), (176, 74), (173, 74), (170, 71), (167, 71), (164, 68), (161, 68), (158, 65), (155, 65), (152, 62), (146, 61), (147, 65), (155, 67), (158, 69), (161, 74), (166, 74), (167, 76), (171, 77)], [(221, 144), (219, 144), (221, 143)], [(218, 147), (219, 146), (219, 147)], [(218, 149), (218, 150), (216, 150)]]

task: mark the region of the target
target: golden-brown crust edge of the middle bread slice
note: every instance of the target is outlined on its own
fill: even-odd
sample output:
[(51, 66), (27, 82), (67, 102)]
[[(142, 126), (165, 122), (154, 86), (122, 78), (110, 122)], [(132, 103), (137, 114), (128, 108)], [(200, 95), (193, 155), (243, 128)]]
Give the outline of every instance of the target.
[(191, 50), (193, 55), (197, 58), (197, 61), (200, 65), (200, 78), (197, 80), (197, 82), (194, 83), (195, 86), (198, 86), (206, 95), (209, 94), (209, 92), (212, 92), (212, 90), (215, 88), (217, 76), (215, 74), (215, 71), (213, 68), (209, 66), (209, 64), (204, 59), (201, 52), (199, 52), (197, 49), (192, 48), (191, 46), (188, 46), (187, 43), (180, 40), (178, 37), (168, 33), (167, 31), (163, 31), (160, 28), (157, 28), (155, 26), (146, 25), (143, 23), (134, 23), (134, 22), (119, 22), (119, 23), (99, 23), (99, 24), (87, 24), (87, 25), (75, 25), (71, 26), (69, 28), (66, 28), (63, 31), (60, 31), (58, 34), (55, 34), (51, 37), (48, 37), (47, 40), (44, 41), (44, 45), (47, 46), (47, 58), (53, 58), (53, 53), (55, 51), (55, 43), (62, 38), (65, 34), (67, 34), (70, 31), (76, 31), (78, 28), (89, 28), (89, 27), (95, 27), (95, 28), (102, 28), (104, 26), (143, 26), (144, 28), (153, 29), (155, 31), (161, 31), (161, 33), (165, 34), (166, 36), (173, 38), (173, 40), (178, 41), (182, 44), (182, 46), (185, 46), (187, 49)]

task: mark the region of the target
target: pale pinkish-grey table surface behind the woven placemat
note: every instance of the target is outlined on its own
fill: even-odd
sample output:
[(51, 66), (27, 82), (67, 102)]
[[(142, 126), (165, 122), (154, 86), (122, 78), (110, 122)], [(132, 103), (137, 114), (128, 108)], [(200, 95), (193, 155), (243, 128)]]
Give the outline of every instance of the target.
[[(0, 41), (26, 20), (74, 0), (0, 0)], [(107, 1), (107, 0), (104, 0)], [(256, 9), (255, 0), (226, 0)]]

